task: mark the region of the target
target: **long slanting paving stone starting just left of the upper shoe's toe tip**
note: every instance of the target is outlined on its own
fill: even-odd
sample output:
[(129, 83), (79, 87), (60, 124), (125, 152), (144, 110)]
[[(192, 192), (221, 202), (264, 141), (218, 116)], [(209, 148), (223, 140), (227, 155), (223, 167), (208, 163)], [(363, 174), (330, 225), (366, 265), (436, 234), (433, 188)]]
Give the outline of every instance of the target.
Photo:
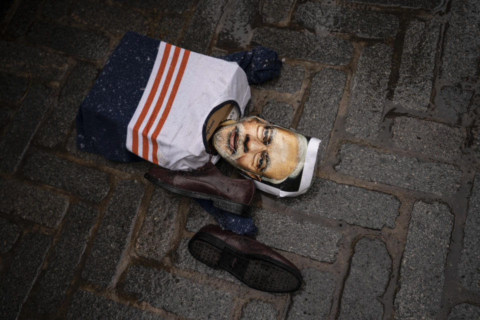
[(116, 272), (133, 228), (143, 196), (143, 185), (136, 180), (121, 180), (106, 207), (82, 277), (106, 287)]

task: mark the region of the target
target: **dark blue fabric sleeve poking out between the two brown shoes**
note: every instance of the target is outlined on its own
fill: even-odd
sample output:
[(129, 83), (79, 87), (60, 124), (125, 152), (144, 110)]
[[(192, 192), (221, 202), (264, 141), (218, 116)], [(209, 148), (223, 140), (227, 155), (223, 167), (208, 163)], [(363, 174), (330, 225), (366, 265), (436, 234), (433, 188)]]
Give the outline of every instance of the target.
[(195, 199), (200, 206), (210, 213), (216, 223), (223, 229), (233, 231), (238, 234), (255, 235), (257, 232), (253, 220), (249, 217), (242, 217), (228, 211), (220, 210), (213, 206), (213, 201), (205, 199)]

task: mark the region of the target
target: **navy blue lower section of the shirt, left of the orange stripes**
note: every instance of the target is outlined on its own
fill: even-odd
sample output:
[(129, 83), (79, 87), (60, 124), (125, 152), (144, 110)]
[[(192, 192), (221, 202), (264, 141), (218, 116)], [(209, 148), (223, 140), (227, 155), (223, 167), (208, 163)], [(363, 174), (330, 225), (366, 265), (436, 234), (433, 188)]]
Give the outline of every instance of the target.
[(148, 82), (160, 41), (127, 32), (81, 102), (76, 146), (113, 161), (141, 158), (126, 148), (128, 122)]

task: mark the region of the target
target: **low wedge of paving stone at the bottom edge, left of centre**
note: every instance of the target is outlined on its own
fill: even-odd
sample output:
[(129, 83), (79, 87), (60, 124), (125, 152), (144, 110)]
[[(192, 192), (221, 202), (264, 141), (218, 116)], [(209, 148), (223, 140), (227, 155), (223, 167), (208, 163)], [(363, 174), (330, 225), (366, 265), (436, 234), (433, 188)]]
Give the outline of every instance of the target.
[(117, 320), (154, 320), (160, 316), (121, 304), (87, 291), (78, 291), (73, 295), (66, 315), (68, 320), (117, 319)]

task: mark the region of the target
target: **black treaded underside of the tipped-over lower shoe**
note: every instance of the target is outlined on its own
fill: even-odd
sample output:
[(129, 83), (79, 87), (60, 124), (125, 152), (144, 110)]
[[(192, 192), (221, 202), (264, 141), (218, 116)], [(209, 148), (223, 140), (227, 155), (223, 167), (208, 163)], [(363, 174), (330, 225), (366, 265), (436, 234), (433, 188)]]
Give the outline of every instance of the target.
[(284, 293), (301, 286), (297, 270), (266, 255), (244, 253), (209, 233), (197, 232), (188, 242), (188, 251), (198, 261), (224, 269), (256, 290)]

